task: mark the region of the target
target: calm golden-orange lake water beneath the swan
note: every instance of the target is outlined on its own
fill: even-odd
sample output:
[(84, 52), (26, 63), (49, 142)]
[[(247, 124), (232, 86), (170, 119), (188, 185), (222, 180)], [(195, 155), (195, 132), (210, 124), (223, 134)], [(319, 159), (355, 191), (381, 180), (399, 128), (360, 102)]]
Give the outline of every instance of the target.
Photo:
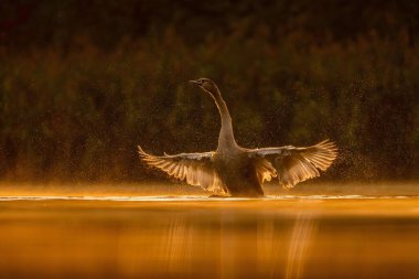
[(98, 189), (1, 187), (0, 277), (419, 278), (416, 184), (265, 198)]

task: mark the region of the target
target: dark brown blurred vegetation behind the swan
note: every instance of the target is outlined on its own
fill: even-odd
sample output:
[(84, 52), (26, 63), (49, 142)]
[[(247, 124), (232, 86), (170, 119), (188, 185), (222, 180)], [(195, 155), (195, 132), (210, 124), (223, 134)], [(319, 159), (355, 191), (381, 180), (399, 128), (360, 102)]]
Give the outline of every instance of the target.
[(418, 179), (415, 1), (1, 1), (0, 178), (159, 178), (216, 147), (216, 81), (246, 147), (325, 138), (330, 179)]

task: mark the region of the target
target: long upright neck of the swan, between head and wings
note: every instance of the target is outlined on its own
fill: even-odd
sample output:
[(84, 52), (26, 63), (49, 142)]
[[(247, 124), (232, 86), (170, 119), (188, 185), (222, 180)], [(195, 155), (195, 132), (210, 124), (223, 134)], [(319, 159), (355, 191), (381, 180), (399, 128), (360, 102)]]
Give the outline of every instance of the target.
[(217, 105), (219, 116), (222, 118), (222, 128), (218, 137), (218, 150), (225, 150), (226, 148), (236, 148), (237, 142), (234, 138), (232, 117), (228, 112), (226, 103), (224, 101), (218, 88), (212, 94), (215, 104)]

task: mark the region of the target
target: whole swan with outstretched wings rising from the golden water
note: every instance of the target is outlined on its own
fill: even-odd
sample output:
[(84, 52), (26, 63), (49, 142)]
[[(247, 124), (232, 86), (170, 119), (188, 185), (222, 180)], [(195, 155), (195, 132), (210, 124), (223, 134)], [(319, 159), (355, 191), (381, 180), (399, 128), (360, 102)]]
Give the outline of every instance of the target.
[(337, 148), (327, 140), (308, 148), (292, 146), (246, 149), (237, 144), (228, 112), (217, 86), (207, 78), (191, 81), (207, 92), (218, 108), (222, 128), (218, 147), (213, 152), (151, 155), (139, 146), (139, 154), (149, 165), (169, 175), (201, 186), (215, 194), (264, 196), (265, 180), (278, 178), (284, 187), (320, 175), (337, 155)]

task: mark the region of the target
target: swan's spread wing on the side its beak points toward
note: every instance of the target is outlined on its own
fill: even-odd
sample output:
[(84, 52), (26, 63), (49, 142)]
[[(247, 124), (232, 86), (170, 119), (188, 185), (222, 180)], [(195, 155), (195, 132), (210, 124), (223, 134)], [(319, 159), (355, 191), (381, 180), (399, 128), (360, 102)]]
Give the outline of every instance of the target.
[(227, 191), (217, 175), (212, 157), (213, 152), (181, 153), (174, 155), (151, 155), (138, 146), (140, 158), (149, 165), (158, 168), (170, 176), (185, 181), (190, 185), (224, 194)]

